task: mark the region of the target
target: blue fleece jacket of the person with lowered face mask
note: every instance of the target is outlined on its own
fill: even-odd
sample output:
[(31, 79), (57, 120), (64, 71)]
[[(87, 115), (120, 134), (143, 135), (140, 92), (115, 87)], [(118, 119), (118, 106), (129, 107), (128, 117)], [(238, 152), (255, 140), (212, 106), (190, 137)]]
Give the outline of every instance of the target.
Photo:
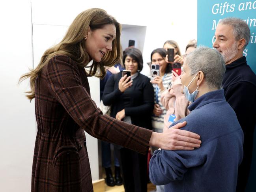
[(192, 151), (157, 150), (149, 163), (149, 178), (165, 192), (235, 192), (237, 169), (243, 158), (243, 131), (224, 90), (196, 99), (184, 130), (201, 136)]

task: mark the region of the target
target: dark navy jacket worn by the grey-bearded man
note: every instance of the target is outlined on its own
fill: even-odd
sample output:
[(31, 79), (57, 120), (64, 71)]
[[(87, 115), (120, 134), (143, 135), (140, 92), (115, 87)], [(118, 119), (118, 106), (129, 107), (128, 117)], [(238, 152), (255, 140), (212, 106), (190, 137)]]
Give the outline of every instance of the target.
[(234, 109), (245, 136), (243, 162), (239, 166), (237, 180), (237, 191), (243, 191), (250, 172), (256, 125), (256, 75), (247, 65), (245, 56), (226, 65), (222, 85), (226, 101)]

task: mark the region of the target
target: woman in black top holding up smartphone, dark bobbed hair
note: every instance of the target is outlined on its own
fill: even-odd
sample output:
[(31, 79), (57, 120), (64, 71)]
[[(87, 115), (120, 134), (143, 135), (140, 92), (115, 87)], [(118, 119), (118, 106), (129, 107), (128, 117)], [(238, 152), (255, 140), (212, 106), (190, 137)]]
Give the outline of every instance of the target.
[[(140, 74), (143, 67), (140, 50), (125, 50), (123, 63), (131, 76), (127, 76), (127, 71), (124, 76), (122, 72), (112, 75), (105, 86), (103, 103), (111, 105), (110, 116), (151, 130), (154, 90), (149, 78)], [(120, 156), (125, 192), (147, 192), (147, 155), (121, 148)]]

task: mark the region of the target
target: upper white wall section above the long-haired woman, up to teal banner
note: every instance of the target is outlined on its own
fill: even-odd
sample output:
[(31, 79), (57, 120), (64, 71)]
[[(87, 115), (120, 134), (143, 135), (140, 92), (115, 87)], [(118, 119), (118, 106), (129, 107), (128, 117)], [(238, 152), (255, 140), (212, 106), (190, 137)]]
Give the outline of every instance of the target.
[[(182, 53), (190, 39), (197, 37), (197, 1), (130, 0), (45, 0), (33, 2), (33, 23), (68, 26), (81, 11), (98, 7), (105, 9), (121, 24), (146, 26), (143, 48), (145, 61), (150, 61), (153, 49), (163, 47), (164, 41), (176, 40)], [(45, 11), (47, 10), (47, 12)]]

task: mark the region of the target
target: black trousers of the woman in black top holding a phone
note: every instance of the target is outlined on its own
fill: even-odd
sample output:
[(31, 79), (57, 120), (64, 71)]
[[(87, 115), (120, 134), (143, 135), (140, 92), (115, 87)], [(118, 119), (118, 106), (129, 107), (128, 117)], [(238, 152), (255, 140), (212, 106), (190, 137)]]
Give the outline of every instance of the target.
[(125, 192), (147, 192), (147, 155), (120, 149)]

